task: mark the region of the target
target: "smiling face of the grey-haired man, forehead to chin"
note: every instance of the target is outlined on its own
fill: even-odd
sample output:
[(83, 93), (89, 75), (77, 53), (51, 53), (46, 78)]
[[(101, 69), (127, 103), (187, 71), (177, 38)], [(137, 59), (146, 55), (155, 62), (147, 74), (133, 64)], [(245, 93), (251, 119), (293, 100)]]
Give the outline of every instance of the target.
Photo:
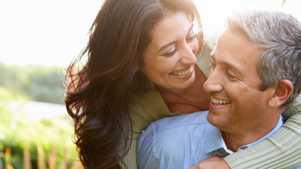
[[(207, 119), (223, 131), (250, 131), (264, 121), (271, 90), (259, 91), (256, 69), (262, 48), (238, 30), (225, 30), (213, 51), (204, 89), (211, 95)], [(240, 133), (241, 134), (241, 133)]]

